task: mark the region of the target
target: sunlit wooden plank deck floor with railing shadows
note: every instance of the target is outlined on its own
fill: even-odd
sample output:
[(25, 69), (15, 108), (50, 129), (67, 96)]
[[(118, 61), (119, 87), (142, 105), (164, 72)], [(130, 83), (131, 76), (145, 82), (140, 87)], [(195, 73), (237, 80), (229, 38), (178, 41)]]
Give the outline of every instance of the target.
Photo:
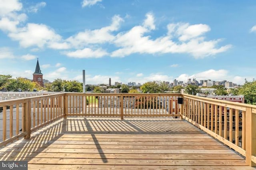
[(254, 169), (180, 119), (67, 118), (0, 149), (28, 169)]

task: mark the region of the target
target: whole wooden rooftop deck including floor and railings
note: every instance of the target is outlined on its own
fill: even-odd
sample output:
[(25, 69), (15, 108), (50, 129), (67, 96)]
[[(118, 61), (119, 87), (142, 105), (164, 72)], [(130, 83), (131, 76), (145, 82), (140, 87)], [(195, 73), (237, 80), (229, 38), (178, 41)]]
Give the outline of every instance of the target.
[(28, 169), (246, 170), (256, 162), (256, 106), (182, 94), (62, 93), (0, 107), (0, 160), (27, 160)]

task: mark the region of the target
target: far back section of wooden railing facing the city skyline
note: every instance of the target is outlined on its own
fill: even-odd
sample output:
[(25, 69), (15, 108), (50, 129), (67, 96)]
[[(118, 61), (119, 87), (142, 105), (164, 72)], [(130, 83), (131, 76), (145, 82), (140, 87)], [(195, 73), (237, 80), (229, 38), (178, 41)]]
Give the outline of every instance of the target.
[[(177, 117), (180, 94), (66, 93), (67, 116)], [(85, 102), (86, 101), (86, 102)]]

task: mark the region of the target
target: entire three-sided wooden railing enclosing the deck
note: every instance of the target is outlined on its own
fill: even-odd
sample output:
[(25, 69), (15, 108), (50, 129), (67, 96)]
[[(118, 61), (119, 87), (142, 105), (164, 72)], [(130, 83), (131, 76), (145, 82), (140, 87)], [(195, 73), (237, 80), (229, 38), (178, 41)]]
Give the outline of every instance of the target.
[[(178, 104), (183, 98), (183, 104)], [(0, 147), (67, 116), (180, 117), (256, 166), (256, 106), (186, 94), (60, 93), (0, 102)], [(2, 138), (1, 138), (2, 137)]]

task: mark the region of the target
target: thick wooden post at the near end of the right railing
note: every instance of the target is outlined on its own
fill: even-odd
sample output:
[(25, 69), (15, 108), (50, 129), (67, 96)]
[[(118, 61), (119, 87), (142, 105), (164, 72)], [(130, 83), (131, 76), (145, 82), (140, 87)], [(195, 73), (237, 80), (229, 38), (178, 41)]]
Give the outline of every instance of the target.
[(246, 150), (246, 164), (256, 166), (252, 162), (252, 155), (256, 154), (256, 114), (252, 113), (252, 107), (246, 107), (246, 136), (245, 136), (245, 150)]

